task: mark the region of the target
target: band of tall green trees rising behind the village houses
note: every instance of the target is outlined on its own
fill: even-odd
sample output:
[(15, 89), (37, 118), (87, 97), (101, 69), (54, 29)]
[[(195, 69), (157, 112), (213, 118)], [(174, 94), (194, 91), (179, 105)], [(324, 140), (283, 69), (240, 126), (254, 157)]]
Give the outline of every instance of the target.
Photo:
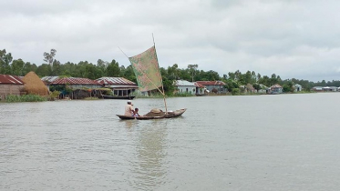
[[(88, 61), (80, 61), (79, 63), (67, 62), (61, 64), (55, 55), (57, 50), (51, 49), (50, 52), (43, 54), (43, 60), (45, 61), (42, 65), (32, 64), (25, 62), (22, 59), (13, 59), (11, 53), (6, 53), (5, 49), (0, 50), (0, 74), (3, 75), (26, 75), (30, 71), (34, 71), (36, 75), (42, 76), (72, 76), (72, 77), (84, 77), (89, 79), (98, 79), (103, 76), (108, 77), (125, 77), (132, 82), (137, 82), (136, 76), (134, 75), (132, 66), (125, 67), (119, 65), (114, 59), (112, 61), (104, 61), (98, 59), (96, 64), (89, 63)], [(174, 64), (168, 66), (168, 68), (160, 67), (160, 72), (163, 78), (163, 84), (165, 90), (172, 92), (173, 80), (187, 80), (190, 82), (195, 81), (223, 81), (228, 90), (233, 88), (239, 88), (240, 85), (251, 84), (255, 89), (261, 89), (262, 85), (271, 86), (275, 84), (285, 85), (285, 87), (291, 87), (294, 84), (302, 85), (305, 90), (310, 90), (313, 86), (340, 86), (340, 81), (328, 81), (325, 82), (312, 82), (308, 80), (299, 80), (296, 78), (292, 79), (281, 79), (280, 75), (261, 75), (254, 71), (247, 71), (242, 73), (237, 70), (235, 72), (229, 72), (225, 75), (219, 75), (216, 71), (199, 70), (199, 65), (188, 65), (187, 68), (179, 68), (179, 65)], [(284, 86), (283, 86), (284, 88)]]

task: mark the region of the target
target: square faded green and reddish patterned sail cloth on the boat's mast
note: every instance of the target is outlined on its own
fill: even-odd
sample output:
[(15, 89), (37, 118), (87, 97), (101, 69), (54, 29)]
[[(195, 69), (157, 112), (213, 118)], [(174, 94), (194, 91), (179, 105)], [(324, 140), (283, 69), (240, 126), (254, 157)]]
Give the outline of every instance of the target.
[(161, 86), (160, 68), (155, 46), (139, 55), (129, 57), (129, 62), (135, 72), (139, 91), (145, 92)]

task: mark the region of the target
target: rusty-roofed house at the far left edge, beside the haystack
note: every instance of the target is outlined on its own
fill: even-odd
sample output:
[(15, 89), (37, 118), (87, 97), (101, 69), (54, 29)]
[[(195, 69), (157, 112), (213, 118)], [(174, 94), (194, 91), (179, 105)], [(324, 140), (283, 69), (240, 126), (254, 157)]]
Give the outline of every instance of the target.
[(0, 99), (5, 95), (22, 95), (25, 83), (16, 75), (0, 75)]

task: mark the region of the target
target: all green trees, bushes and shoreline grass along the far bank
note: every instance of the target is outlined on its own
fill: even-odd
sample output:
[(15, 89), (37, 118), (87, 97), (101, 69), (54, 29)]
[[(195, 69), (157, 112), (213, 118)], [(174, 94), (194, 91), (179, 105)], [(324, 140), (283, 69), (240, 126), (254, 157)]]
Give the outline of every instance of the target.
[[(28, 73), (36, 73), (36, 78), (41, 78), (43, 76), (59, 76), (59, 77), (82, 77), (91, 80), (98, 79), (102, 76), (108, 77), (124, 77), (134, 83), (137, 83), (136, 75), (133, 71), (131, 65), (124, 66), (119, 65), (115, 59), (111, 62), (98, 59), (98, 62), (93, 64), (88, 61), (80, 61), (79, 63), (60, 63), (55, 56), (57, 50), (51, 49), (50, 53), (45, 52), (44, 61), (45, 63), (41, 65), (36, 65), (34, 63), (25, 62), (22, 59), (13, 59), (11, 53), (7, 53), (5, 49), (0, 50), (0, 74), (2, 75), (15, 75), (23, 76)], [(213, 69), (213, 68), (212, 68)], [(32, 71), (32, 72), (31, 72)], [(272, 85), (281, 85), (283, 87), (283, 94), (308, 94), (313, 93), (314, 86), (340, 86), (340, 80), (333, 80), (326, 82), (322, 80), (321, 82), (312, 82), (304, 79), (282, 79), (280, 75), (261, 75), (255, 71), (247, 71), (242, 73), (240, 70), (235, 72), (229, 72), (228, 74), (220, 75), (214, 70), (204, 71), (199, 69), (199, 65), (188, 65), (187, 68), (180, 68), (178, 64), (173, 64), (165, 67), (160, 67), (160, 73), (162, 76), (162, 82), (164, 91), (167, 97), (190, 97), (195, 96), (190, 92), (183, 94), (175, 94), (176, 86), (174, 85), (175, 80), (186, 80), (188, 82), (197, 81), (221, 81), (225, 85), (223, 88), (227, 90), (227, 93), (214, 94), (212, 91), (208, 94), (212, 95), (264, 95), (265, 93), (252, 93), (244, 91), (245, 87), (248, 85), (252, 86), (252, 90), (265, 90), (266, 87)], [(31, 81), (34, 81), (36, 85), (36, 79), (31, 76)], [(300, 85), (302, 92), (294, 92), (294, 85)], [(242, 87), (243, 86), (243, 87)], [(34, 89), (33, 87), (31, 88)], [(90, 94), (87, 100), (95, 100), (94, 89), (79, 88), (84, 92), (84, 96), (81, 99), (85, 99), (85, 93)], [(300, 90), (301, 90), (300, 89)], [(103, 95), (112, 95), (106, 88), (98, 89)], [(73, 91), (75, 89), (69, 88), (67, 85), (64, 87), (54, 86), (50, 87), (49, 95), (29, 95), (30, 91), (26, 91), (28, 95), (6, 95), (5, 97), (0, 96), (0, 102), (4, 103), (14, 103), (14, 102), (41, 102), (41, 101), (53, 101), (57, 98), (73, 99)], [(97, 91), (97, 90), (96, 90)], [(44, 92), (46, 92), (44, 90)], [(263, 92), (263, 91), (261, 91)], [(70, 96), (71, 94), (71, 96)], [(62, 95), (59, 97), (59, 95)], [(149, 96), (140, 95), (138, 93), (132, 94), (136, 98), (158, 98), (163, 97), (163, 95), (151, 93)], [(4, 96), (4, 95), (3, 95)], [(100, 97), (98, 97), (100, 99)], [(77, 96), (77, 99), (80, 99)]]

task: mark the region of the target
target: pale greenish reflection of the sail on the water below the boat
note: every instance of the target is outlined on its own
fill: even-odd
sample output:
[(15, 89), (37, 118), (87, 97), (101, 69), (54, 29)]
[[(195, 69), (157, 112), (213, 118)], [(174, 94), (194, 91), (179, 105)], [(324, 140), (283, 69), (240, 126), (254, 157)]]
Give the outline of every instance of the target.
[(155, 186), (163, 185), (166, 175), (164, 166), (165, 137), (167, 128), (165, 120), (143, 121), (138, 143), (136, 145), (136, 161), (133, 166), (132, 174), (135, 176), (130, 182), (136, 189), (155, 190)]

